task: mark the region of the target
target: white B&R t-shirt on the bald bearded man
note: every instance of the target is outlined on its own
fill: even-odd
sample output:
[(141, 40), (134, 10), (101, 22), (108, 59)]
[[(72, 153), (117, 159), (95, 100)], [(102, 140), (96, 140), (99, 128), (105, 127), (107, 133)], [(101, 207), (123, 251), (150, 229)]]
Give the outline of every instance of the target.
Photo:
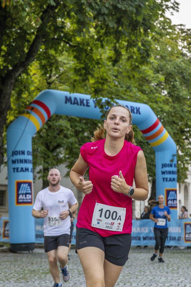
[(60, 219), (59, 214), (69, 209), (68, 203), (73, 205), (76, 202), (73, 191), (63, 186), (56, 192), (49, 191), (48, 187), (39, 191), (33, 209), (48, 210), (48, 215), (44, 218), (44, 236), (70, 234), (70, 216)]

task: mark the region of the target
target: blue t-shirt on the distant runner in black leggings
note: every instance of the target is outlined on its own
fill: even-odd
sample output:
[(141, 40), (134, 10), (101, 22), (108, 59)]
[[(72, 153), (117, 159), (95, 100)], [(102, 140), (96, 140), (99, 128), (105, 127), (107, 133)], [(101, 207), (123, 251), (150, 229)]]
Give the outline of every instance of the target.
[(158, 205), (153, 207), (151, 213), (158, 218), (158, 222), (155, 223), (156, 228), (167, 228), (167, 217), (164, 215), (164, 211), (167, 211), (168, 214), (171, 214), (170, 208), (168, 206), (164, 206), (160, 208)]

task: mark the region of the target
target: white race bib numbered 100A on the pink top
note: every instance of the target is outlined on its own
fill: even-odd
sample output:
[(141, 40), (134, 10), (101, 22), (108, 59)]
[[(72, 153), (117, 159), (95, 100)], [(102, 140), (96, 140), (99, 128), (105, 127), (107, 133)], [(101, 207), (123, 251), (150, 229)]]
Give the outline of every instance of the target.
[(111, 231), (122, 231), (125, 221), (126, 208), (106, 204), (95, 204), (92, 226)]

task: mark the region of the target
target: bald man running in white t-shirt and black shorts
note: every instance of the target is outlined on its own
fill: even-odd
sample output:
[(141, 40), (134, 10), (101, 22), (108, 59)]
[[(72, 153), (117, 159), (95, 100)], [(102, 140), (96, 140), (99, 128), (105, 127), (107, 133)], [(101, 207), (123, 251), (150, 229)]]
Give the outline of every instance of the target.
[(62, 284), (60, 283), (57, 259), (64, 282), (70, 280), (70, 272), (67, 269), (70, 217), (78, 208), (78, 202), (72, 190), (60, 185), (59, 170), (51, 169), (47, 179), (49, 187), (37, 194), (32, 214), (36, 218), (44, 218), (44, 249), (47, 252), (50, 272), (55, 282), (53, 287), (59, 287)]

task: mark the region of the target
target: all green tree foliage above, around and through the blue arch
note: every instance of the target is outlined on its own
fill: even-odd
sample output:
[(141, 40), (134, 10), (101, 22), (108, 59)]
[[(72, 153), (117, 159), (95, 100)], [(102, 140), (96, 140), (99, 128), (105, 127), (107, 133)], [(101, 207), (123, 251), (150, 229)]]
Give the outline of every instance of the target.
[[(165, 18), (170, 7), (177, 10), (177, 2), (3, 0), (1, 86), (4, 77), (26, 61), (38, 33), (43, 35), (34, 61), (17, 77), (7, 126), (46, 88), (91, 94), (103, 114), (101, 97), (108, 98), (106, 105), (115, 99), (147, 103), (177, 144), (178, 181), (184, 181), (191, 158), (191, 35)], [(53, 8), (45, 25), (44, 17)], [(40, 166), (39, 176), (45, 179), (48, 168), (61, 163), (71, 168), (97, 123), (51, 117), (33, 138), (33, 165)], [(137, 127), (134, 131), (149, 178), (155, 178), (154, 151)]]

